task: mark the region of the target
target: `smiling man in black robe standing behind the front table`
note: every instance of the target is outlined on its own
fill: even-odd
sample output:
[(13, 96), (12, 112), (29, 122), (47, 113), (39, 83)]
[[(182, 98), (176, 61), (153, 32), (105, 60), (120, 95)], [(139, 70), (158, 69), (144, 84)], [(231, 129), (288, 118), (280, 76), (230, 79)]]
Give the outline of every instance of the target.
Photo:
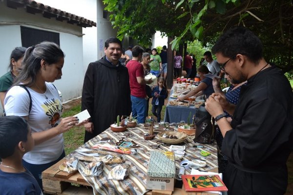
[(128, 70), (121, 65), (122, 43), (117, 38), (105, 41), (105, 56), (88, 65), (82, 95), (82, 111), (91, 118), (84, 124), (84, 142), (99, 135), (131, 112)]

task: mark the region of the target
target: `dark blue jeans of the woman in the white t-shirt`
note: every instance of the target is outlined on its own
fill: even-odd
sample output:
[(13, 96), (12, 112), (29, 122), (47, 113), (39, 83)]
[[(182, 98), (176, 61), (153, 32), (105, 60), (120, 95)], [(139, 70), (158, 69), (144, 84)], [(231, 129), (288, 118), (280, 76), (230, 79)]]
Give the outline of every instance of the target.
[(42, 172), (51, 167), (52, 165), (56, 164), (63, 157), (65, 157), (65, 151), (63, 151), (62, 155), (59, 156), (59, 158), (57, 160), (54, 160), (53, 162), (48, 162), (46, 164), (31, 164), (26, 162), (25, 160), (22, 160), (22, 164), (26, 169), (28, 169), (33, 174), (33, 176), (36, 178), (42, 189)]

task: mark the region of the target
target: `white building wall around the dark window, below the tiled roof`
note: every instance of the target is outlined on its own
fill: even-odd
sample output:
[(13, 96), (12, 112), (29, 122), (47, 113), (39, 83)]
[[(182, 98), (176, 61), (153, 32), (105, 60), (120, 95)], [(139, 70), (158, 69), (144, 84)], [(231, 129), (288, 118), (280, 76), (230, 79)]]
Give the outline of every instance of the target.
[(83, 38), (77, 35), (82, 34), (82, 27), (55, 18), (46, 19), (40, 14), (29, 14), (21, 8), (11, 9), (3, 3), (0, 1), (0, 75), (7, 72), (11, 51), (21, 46), (21, 25), (57, 32), (60, 33), (60, 46), (65, 60), (62, 79), (54, 84), (62, 92), (63, 101), (80, 97), (84, 80)]

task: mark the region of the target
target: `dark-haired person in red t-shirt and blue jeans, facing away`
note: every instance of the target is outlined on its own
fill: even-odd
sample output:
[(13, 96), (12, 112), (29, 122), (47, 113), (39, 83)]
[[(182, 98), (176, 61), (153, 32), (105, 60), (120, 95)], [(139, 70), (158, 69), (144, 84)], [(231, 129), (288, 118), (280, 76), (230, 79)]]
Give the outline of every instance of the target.
[(140, 63), (144, 49), (138, 45), (132, 48), (132, 59), (126, 64), (129, 74), (130, 98), (132, 103), (132, 116), (137, 117), (138, 123), (146, 120), (146, 84), (144, 67)]

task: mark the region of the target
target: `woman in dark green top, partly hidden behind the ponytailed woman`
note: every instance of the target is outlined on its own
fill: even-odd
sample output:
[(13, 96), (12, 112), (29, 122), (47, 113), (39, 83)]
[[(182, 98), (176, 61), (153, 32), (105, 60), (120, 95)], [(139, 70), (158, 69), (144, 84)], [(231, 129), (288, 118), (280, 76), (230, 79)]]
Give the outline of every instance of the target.
[(2, 108), (4, 108), (4, 98), (8, 89), (11, 87), (14, 78), (19, 75), (25, 50), (25, 47), (16, 47), (11, 52), (9, 65), (10, 71), (0, 77), (0, 100)]

